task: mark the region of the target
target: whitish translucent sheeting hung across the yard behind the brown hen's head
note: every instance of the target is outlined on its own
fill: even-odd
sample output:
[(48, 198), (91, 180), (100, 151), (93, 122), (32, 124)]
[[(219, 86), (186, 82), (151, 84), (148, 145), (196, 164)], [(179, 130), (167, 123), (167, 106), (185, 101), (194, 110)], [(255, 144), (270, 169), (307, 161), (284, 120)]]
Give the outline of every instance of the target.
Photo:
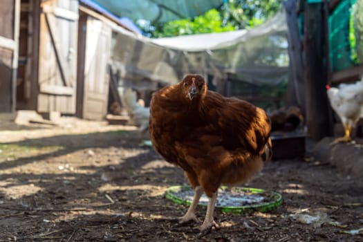
[(149, 39), (115, 31), (113, 62), (125, 80), (174, 84), (187, 73), (218, 80), (277, 85), (288, 77), (288, 41), (284, 12), (250, 30)]

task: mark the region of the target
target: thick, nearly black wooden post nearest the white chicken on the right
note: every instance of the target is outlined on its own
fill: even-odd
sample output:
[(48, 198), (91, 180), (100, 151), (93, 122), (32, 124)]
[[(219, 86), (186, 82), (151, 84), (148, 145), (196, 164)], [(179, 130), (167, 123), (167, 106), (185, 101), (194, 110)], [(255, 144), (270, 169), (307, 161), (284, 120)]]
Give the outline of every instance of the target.
[(324, 3), (306, 3), (304, 8), (305, 100), (308, 135), (320, 140), (332, 134), (326, 84), (328, 65), (327, 11)]

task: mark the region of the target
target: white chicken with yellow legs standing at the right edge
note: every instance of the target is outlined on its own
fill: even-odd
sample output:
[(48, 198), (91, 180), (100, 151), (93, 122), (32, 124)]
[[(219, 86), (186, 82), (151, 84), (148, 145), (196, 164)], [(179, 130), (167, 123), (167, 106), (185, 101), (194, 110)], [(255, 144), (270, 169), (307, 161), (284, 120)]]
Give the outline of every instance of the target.
[(338, 88), (326, 85), (331, 107), (344, 126), (344, 137), (335, 142), (351, 142), (351, 131), (360, 118), (363, 118), (363, 77), (353, 84), (340, 84)]

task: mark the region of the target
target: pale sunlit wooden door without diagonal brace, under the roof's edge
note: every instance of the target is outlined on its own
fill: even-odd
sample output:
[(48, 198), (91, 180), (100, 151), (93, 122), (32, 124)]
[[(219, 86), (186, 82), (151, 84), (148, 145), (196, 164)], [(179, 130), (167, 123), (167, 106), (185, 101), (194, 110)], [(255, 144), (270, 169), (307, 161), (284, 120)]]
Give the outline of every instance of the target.
[(111, 28), (95, 17), (81, 13), (80, 51), (77, 77), (77, 116), (102, 120), (109, 99), (109, 55)]

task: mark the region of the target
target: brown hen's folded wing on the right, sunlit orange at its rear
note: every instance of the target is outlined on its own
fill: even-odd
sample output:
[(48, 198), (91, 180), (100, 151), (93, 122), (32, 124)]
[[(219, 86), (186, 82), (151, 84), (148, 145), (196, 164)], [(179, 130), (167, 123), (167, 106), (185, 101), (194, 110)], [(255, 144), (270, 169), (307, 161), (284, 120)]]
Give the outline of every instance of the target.
[(260, 152), (270, 135), (270, 118), (266, 112), (243, 100), (226, 98), (209, 92), (205, 98), (206, 114), (218, 133), (225, 149), (239, 148)]

